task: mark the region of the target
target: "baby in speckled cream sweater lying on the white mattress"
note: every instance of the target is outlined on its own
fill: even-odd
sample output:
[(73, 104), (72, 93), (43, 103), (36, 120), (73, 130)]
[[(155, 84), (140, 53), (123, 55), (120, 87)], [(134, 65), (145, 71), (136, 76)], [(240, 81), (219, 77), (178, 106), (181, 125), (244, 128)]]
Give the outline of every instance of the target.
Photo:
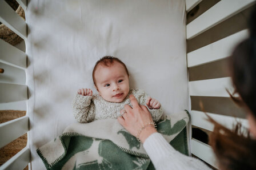
[(129, 87), (129, 73), (125, 64), (113, 56), (98, 60), (93, 69), (93, 82), (98, 91), (93, 95), (90, 88), (79, 89), (73, 102), (74, 117), (79, 123), (98, 119), (118, 118), (133, 94), (141, 105), (146, 105), (154, 122), (158, 122), (163, 111), (161, 104), (142, 90)]

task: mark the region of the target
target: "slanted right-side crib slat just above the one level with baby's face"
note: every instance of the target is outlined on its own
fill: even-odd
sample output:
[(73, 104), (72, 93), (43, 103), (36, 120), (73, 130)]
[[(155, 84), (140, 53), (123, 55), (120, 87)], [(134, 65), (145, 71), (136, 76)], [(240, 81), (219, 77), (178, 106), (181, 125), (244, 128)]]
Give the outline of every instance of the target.
[(199, 64), (213, 62), (230, 56), (234, 46), (248, 35), (248, 30), (242, 30), (198, 50), (189, 52), (187, 54), (187, 67), (198, 66)]

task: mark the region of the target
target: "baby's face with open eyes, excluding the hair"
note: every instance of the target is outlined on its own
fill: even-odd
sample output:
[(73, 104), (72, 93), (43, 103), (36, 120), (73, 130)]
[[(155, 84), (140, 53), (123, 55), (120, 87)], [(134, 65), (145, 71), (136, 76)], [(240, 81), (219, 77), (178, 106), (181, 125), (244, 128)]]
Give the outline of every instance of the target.
[(118, 62), (110, 67), (99, 65), (94, 77), (99, 95), (108, 102), (120, 103), (129, 93), (129, 76)]

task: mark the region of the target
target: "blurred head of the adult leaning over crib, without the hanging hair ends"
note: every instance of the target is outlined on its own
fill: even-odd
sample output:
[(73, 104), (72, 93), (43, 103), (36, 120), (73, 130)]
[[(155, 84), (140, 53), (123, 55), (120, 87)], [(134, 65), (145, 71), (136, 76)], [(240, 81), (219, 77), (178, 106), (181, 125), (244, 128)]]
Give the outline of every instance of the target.
[[(230, 57), (231, 78), (235, 90), (241, 96), (238, 103), (249, 118), (250, 131), (256, 137), (256, 8), (249, 21), (250, 35), (238, 44)], [(234, 98), (233, 98), (234, 99)]]

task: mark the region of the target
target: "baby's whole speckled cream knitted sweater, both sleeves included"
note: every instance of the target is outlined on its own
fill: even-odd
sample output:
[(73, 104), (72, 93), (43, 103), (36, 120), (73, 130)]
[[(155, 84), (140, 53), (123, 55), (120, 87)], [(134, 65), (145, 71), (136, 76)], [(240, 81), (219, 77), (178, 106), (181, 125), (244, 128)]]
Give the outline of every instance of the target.
[[(125, 104), (131, 106), (129, 95), (133, 94), (139, 104), (146, 106), (147, 94), (143, 90), (129, 91), (129, 94), (121, 103), (107, 102), (101, 96), (82, 96), (77, 94), (73, 101), (74, 117), (79, 123), (88, 123), (93, 120), (118, 118), (121, 116), (120, 111), (124, 108)], [(149, 109), (149, 108), (148, 108)], [(159, 109), (149, 109), (154, 122), (158, 122), (163, 114), (162, 107)]]

